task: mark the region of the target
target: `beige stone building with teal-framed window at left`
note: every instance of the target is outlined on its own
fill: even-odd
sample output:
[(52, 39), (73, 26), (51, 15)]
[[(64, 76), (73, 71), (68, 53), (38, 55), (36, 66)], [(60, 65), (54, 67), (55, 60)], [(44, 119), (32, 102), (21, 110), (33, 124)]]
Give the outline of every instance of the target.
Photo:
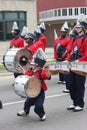
[(11, 39), (14, 21), (20, 31), (27, 26), (33, 32), (37, 25), (36, 0), (0, 0), (0, 41)]

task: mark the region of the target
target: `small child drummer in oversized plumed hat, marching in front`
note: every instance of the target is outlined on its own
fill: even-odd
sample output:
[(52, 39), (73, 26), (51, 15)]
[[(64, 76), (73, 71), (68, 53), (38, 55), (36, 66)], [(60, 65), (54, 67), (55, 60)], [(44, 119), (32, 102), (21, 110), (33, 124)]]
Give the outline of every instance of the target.
[(22, 111), (17, 113), (18, 116), (26, 116), (30, 112), (30, 107), (34, 107), (34, 112), (39, 116), (41, 121), (46, 119), (46, 114), (44, 111), (44, 100), (45, 100), (45, 90), (47, 90), (47, 85), (44, 80), (51, 79), (51, 73), (49, 71), (49, 66), (46, 64), (45, 59), (41, 59), (41, 56), (34, 58), (34, 67), (30, 72), (25, 72), (25, 70), (21, 67), (23, 74), (28, 76), (35, 76), (41, 81), (41, 91), (39, 95), (35, 98), (27, 97), (24, 103), (24, 108)]

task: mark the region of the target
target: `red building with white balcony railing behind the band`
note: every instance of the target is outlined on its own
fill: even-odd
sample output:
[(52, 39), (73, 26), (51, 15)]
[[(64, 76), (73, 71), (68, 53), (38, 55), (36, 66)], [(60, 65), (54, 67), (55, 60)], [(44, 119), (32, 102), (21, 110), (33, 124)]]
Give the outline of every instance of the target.
[(44, 21), (46, 24), (48, 46), (53, 46), (54, 29), (60, 35), (60, 28), (65, 21), (73, 28), (81, 13), (87, 16), (87, 0), (37, 0), (38, 23)]

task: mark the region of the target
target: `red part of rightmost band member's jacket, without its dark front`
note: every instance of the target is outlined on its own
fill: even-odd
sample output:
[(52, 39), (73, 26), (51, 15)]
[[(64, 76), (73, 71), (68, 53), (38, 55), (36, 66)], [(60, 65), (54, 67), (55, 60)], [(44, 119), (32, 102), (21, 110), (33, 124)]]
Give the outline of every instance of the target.
[(75, 46), (78, 47), (81, 57), (78, 59), (79, 61), (87, 61), (87, 38), (85, 37), (84, 41), (82, 41), (83, 36), (77, 37), (75, 41), (69, 45), (70, 52), (68, 54), (67, 59), (70, 60), (71, 52)]

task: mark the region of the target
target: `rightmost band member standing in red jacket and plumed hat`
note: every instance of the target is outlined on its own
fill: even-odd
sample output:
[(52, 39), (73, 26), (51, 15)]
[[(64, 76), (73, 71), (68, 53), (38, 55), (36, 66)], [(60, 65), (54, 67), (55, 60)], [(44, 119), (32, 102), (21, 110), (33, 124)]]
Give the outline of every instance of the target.
[[(84, 16), (85, 17), (85, 16)], [(85, 30), (87, 27), (87, 21), (81, 19), (78, 20), (75, 28), (78, 33), (73, 44), (71, 45), (71, 52), (67, 59), (74, 62), (87, 61), (87, 38), (85, 37)], [(85, 94), (85, 81), (86, 76), (70, 72), (70, 97), (73, 101), (73, 105), (69, 106), (67, 110), (73, 110), (74, 112), (82, 111), (84, 108), (84, 94)]]

